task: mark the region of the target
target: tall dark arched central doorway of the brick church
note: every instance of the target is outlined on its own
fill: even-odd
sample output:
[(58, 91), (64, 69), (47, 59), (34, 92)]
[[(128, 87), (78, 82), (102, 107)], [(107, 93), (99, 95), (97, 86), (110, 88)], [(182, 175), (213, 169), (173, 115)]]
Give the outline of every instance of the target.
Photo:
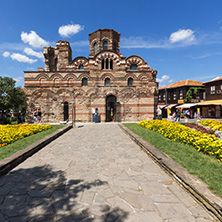
[(115, 121), (116, 118), (116, 97), (109, 95), (106, 97), (106, 122)]

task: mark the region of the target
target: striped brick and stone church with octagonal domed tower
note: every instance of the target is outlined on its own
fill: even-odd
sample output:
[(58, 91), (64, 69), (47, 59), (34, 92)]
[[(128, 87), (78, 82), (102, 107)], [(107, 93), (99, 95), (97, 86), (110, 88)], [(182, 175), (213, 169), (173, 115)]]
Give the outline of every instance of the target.
[(157, 71), (137, 55), (123, 57), (112, 29), (89, 34), (89, 46), (88, 58), (74, 59), (68, 41), (43, 48), (45, 69), (24, 72), (27, 122), (35, 108), (42, 122), (92, 122), (94, 110), (101, 122), (154, 118)]

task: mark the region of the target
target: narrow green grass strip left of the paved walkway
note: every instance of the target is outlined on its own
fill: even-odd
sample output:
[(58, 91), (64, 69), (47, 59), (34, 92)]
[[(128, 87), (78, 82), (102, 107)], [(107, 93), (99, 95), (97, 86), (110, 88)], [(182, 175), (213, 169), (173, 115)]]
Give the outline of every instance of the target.
[(24, 139), (18, 140), (12, 144), (7, 146), (3, 146), (0, 148), (0, 160), (9, 157), (13, 153), (16, 153), (19, 150), (26, 148), (27, 146), (31, 145), (32, 143), (43, 139), (44, 137), (54, 133), (56, 130), (63, 128), (63, 125), (53, 125), (51, 129), (46, 131), (42, 131), (40, 133), (25, 137)]

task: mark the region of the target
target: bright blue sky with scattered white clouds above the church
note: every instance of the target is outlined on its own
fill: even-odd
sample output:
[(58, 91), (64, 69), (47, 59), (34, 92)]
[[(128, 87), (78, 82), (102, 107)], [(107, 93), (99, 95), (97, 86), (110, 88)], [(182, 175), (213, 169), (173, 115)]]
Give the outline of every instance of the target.
[(0, 0), (0, 76), (24, 86), (23, 71), (44, 68), (42, 48), (71, 43), (89, 55), (88, 34), (121, 33), (123, 56), (141, 56), (160, 86), (222, 76), (221, 0)]

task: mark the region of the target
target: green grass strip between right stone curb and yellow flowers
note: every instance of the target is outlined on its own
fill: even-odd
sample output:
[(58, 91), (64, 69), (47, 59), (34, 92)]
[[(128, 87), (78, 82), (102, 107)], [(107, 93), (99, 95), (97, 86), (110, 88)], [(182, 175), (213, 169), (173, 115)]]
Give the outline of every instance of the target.
[(222, 162), (212, 156), (198, 152), (193, 146), (180, 144), (165, 138), (136, 123), (124, 124), (147, 142), (160, 149), (173, 160), (204, 181), (210, 190), (222, 197)]

